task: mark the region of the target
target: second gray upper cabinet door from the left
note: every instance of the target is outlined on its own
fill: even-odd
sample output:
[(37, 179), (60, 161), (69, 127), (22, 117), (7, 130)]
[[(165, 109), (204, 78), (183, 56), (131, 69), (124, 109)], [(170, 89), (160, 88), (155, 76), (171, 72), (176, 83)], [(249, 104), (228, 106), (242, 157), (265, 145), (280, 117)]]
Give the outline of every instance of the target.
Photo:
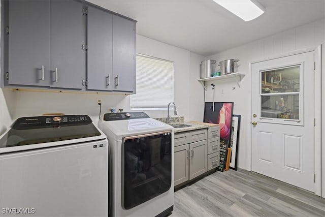
[(76, 1), (51, 1), (51, 87), (82, 89), (82, 8)]

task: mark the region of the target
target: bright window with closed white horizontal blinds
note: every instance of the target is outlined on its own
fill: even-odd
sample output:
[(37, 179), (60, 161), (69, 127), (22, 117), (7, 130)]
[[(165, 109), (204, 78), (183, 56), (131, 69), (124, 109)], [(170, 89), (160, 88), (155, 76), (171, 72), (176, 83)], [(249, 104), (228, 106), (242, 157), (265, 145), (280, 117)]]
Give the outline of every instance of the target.
[(166, 108), (174, 101), (174, 63), (137, 54), (137, 94), (131, 108)]

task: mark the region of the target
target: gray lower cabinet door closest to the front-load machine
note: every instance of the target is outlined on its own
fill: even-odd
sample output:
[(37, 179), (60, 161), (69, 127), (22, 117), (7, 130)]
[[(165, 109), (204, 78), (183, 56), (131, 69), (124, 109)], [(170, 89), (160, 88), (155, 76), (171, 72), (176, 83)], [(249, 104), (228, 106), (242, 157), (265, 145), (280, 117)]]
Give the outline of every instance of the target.
[(174, 186), (188, 180), (189, 144), (174, 148)]

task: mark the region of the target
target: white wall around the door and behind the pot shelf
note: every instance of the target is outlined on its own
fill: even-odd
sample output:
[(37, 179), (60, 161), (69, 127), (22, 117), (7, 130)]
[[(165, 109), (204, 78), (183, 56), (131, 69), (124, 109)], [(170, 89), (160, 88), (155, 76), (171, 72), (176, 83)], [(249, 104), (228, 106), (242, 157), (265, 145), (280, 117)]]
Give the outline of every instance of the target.
[[(235, 81), (222, 80), (221, 82), (213, 82), (216, 84), (216, 101), (233, 101), (234, 102), (234, 114), (240, 114), (241, 126), (240, 126), (240, 141), (239, 141), (239, 156), (238, 156), (238, 167), (247, 169), (247, 126), (250, 122), (249, 109), (250, 102), (247, 101), (247, 97), (250, 94), (249, 87), (249, 69), (248, 63), (262, 58), (274, 57), (276, 55), (285, 54), (299, 49), (314, 47), (325, 44), (324, 34), (324, 19), (318, 20), (303, 26), (299, 26), (293, 29), (288, 29), (282, 33), (253, 41), (248, 44), (244, 44), (239, 47), (235, 47), (211, 56), (209, 59), (217, 60), (217, 63), (223, 59), (240, 59), (238, 72), (245, 74), (246, 76), (240, 82), (241, 88), (239, 88)], [(322, 47), (322, 67), (325, 66), (325, 48)], [(325, 129), (325, 76), (324, 70), (322, 74), (322, 147), (325, 147), (324, 143), (324, 129)], [(210, 82), (211, 83), (211, 82)], [(208, 86), (210, 85), (208, 83)], [(232, 87), (235, 87), (232, 90)], [(223, 89), (223, 93), (221, 91)], [(211, 88), (207, 91), (207, 101), (212, 100)], [(320, 108), (319, 108), (320, 109)], [(322, 186), (323, 195), (325, 195), (325, 148), (322, 149)]]

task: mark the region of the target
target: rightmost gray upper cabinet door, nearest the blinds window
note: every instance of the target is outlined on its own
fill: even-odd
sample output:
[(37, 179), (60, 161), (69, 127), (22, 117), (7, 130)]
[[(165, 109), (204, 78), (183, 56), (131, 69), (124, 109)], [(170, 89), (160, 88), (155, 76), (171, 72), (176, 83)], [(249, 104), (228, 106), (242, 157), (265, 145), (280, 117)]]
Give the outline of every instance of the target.
[(113, 15), (113, 90), (135, 92), (136, 23)]

